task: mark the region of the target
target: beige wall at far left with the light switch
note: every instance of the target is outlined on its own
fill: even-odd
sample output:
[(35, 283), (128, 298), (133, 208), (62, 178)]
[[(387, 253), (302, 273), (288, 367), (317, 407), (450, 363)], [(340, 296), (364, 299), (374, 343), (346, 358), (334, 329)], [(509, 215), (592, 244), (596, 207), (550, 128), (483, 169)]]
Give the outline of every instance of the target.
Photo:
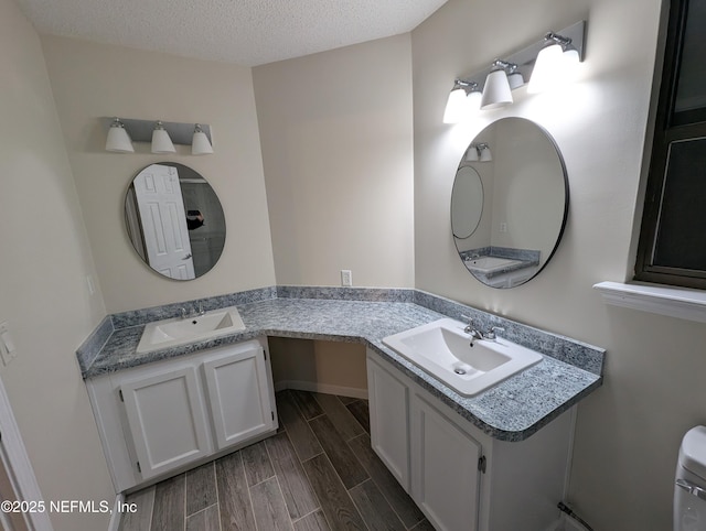
[[(44, 501), (115, 492), (75, 350), (105, 315), (34, 29), (0, 0), (0, 321), (17, 358), (0, 367)], [(108, 514), (52, 513), (56, 530), (106, 529)]]

